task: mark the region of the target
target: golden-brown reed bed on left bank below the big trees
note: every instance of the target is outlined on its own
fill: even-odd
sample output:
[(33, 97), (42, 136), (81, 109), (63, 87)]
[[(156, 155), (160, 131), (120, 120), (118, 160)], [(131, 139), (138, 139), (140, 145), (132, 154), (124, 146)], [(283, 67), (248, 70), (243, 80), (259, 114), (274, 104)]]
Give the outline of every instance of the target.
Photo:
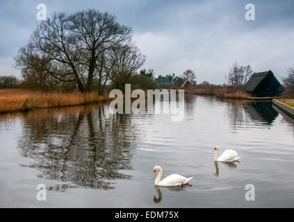
[(26, 89), (0, 89), (0, 112), (33, 110), (35, 108), (54, 108), (71, 105), (99, 103), (108, 100), (108, 95), (80, 92), (34, 92)]

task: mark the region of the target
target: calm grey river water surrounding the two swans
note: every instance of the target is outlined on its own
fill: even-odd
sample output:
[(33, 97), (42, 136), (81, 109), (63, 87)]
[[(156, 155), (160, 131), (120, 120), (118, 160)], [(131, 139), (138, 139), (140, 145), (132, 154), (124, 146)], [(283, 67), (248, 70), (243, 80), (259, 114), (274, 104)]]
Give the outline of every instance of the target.
[[(0, 207), (294, 207), (293, 121), (269, 102), (185, 97), (178, 122), (108, 104), (1, 114)], [(215, 146), (240, 162), (215, 164)], [(156, 165), (194, 178), (154, 187)]]

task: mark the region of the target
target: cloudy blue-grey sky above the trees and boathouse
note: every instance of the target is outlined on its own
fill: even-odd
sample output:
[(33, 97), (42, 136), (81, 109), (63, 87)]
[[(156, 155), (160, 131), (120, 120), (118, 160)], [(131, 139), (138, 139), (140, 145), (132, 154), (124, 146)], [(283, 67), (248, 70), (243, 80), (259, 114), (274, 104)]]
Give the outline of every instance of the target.
[[(35, 27), (39, 3), (53, 12), (97, 9), (133, 28), (155, 76), (192, 69), (198, 83), (225, 83), (234, 62), (271, 69), (279, 80), (294, 66), (293, 0), (0, 0), (0, 76), (21, 76), (14, 57)], [(247, 21), (247, 3), (255, 20)]]

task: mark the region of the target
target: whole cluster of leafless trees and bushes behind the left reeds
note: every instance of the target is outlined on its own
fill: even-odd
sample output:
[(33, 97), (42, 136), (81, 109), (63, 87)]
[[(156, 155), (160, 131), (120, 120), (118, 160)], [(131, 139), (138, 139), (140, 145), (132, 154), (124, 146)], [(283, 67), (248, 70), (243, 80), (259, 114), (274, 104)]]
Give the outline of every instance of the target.
[(146, 58), (131, 33), (108, 12), (54, 13), (38, 24), (15, 61), (31, 89), (102, 94), (108, 83), (124, 89)]

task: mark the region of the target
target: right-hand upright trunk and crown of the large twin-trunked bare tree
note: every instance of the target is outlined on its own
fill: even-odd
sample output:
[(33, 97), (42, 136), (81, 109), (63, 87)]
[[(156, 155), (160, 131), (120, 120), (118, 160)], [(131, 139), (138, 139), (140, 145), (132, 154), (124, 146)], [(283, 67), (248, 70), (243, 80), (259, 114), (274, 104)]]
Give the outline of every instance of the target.
[(87, 69), (85, 91), (90, 89), (99, 56), (103, 57), (106, 51), (130, 39), (131, 28), (122, 26), (115, 20), (108, 12), (96, 10), (76, 12), (70, 16), (70, 27), (84, 47), (82, 63)]

